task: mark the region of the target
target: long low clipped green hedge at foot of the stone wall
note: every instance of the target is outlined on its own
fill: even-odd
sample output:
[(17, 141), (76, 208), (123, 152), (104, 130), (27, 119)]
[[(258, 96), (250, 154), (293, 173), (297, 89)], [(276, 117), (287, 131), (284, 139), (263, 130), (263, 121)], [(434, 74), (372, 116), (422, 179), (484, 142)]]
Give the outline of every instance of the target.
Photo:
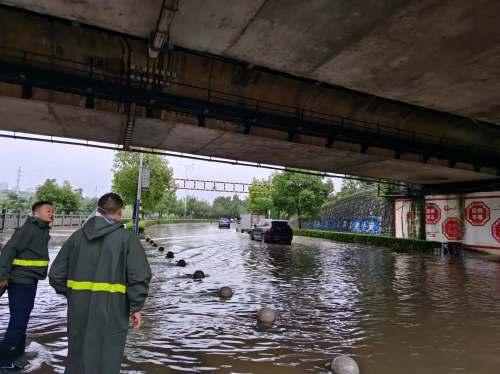
[(365, 234), (353, 234), (345, 232), (299, 230), (299, 229), (293, 230), (293, 234), (296, 236), (308, 236), (311, 238), (330, 239), (344, 243), (356, 243), (356, 244), (372, 245), (375, 247), (387, 247), (394, 250), (433, 252), (435, 248), (441, 248), (441, 243), (439, 242), (416, 240), (416, 239), (393, 238), (389, 236), (380, 236), (380, 235), (365, 235)]

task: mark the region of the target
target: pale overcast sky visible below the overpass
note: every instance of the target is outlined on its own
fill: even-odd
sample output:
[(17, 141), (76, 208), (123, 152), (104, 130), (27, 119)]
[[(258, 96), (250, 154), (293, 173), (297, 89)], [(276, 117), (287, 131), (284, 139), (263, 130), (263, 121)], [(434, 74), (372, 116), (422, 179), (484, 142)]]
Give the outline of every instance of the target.
[[(100, 196), (111, 189), (113, 156), (111, 150), (0, 138), (0, 182), (9, 183), (9, 188), (15, 186), (17, 171), (21, 167), (21, 190), (43, 184), (46, 179), (57, 179), (58, 183), (68, 180), (74, 188), (83, 188), (84, 196), (94, 196), (97, 186), (97, 195)], [(190, 165), (191, 162), (195, 165), (188, 173), (188, 179), (250, 183), (254, 177), (267, 178), (272, 172), (179, 157), (168, 157), (168, 160), (175, 178), (185, 178), (186, 170), (179, 164)], [(341, 180), (334, 179), (334, 183), (338, 191)], [(184, 197), (184, 193), (184, 190), (179, 190), (177, 195)], [(188, 191), (188, 194), (210, 202), (217, 196), (233, 195), (208, 191)]]

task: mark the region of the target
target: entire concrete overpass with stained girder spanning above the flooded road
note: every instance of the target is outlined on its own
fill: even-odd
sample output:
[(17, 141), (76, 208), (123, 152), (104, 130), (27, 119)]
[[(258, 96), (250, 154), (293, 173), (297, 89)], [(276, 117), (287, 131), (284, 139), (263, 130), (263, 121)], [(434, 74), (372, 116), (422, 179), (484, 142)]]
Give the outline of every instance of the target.
[(498, 178), (500, 4), (1, 2), (44, 15), (0, 8), (0, 129), (422, 184)]

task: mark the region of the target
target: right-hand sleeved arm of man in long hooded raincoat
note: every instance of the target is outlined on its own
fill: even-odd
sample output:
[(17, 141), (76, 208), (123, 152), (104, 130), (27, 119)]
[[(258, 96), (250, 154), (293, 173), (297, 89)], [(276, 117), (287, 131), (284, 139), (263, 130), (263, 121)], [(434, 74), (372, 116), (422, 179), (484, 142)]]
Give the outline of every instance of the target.
[(151, 280), (151, 268), (139, 239), (132, 235), (127, 253), (127, 297), (132, 312), (140, 312), (146, 301)]

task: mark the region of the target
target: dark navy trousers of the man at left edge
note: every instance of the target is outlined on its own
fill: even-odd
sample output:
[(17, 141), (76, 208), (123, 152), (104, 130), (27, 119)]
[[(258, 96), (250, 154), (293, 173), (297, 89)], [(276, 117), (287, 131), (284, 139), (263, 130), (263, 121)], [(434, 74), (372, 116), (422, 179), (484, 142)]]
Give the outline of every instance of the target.
[(38, 281), (30, 284), (9, 282), (10, 320), (4, 339), (0, 342), (0, 364), (24, 355), (26, 329), (35, 305)]

